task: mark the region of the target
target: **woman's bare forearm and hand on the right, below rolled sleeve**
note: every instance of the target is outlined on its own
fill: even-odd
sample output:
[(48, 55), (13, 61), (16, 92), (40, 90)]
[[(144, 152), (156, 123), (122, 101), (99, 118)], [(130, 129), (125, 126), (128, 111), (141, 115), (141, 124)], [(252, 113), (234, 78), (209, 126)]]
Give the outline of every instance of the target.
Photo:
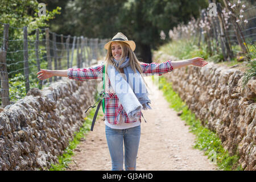
[(207, 61), (204, 61), (201, 57), (194, 57), (192, 59), (182, 60), (182, 61), (172, 61), (172, 67), (174, 69), (185, 67), (187, 65), (194, 65), (196, 67), (204, 67), (207, 65)]

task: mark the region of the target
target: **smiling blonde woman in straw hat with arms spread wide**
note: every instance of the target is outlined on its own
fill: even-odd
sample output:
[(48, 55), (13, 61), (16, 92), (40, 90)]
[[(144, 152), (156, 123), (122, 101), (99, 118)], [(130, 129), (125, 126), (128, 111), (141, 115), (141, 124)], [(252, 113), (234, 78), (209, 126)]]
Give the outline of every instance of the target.
[[(118, 32), (105, 44), (106, 90), (105, 90), (105, 132), (112, 158), (112, 170), (123, 170), (123, 142), (125, 144), (125, 169), (136, 169), (139, 140), (141, 137), (141, 110), (151, 109), (143, 75), (162, 75), (173, 69), (195, 65), (204, 67), (204, 59), (195, 57), (182, 61), (164, 63), (140, 63), (134, 54), (135, 43)], [(84, 81), (102, 78), (103, 65), (68, 70), (41, 69), (38, 78), (64, 76)]]

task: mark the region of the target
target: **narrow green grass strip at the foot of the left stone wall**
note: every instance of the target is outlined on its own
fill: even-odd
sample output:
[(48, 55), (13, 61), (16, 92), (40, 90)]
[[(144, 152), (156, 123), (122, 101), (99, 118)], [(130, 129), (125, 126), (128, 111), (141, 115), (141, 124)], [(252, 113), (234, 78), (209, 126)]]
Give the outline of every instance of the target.
[[(65, 169), (68, 168), (68, 164), (72, 162), (72, 156), (74, 154), (73, 150), (75, 150), (77, 145), (80, 143), (80, 140), (85, 138), (88, 131), (90, 131), (90, 126), (92, 125), (92, 119), (95, 111), (96, 107), (90, 110), (87, 117), (84, 118), (84, 123), (80, 130), (74, 134), (73, 140), (69, 142), (69, 146), (65, 149), (63, 155), (59, 156), (59, 164), (51, 164), (52, 167), (49, 169), (49, 171), (65, 171)], [(102, 116), (101, 109), (98, 112), (97, 119), (100, 116)]]

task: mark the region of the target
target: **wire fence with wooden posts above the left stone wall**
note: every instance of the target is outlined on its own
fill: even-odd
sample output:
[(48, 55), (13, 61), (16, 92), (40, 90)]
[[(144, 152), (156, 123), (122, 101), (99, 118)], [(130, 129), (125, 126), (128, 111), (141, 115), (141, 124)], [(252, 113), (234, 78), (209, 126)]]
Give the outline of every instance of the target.
[(31, 88), (42, 89), (60, 77), (39, 80), (40, 69), (88, 67), (104, 56), (108, 39), (65, 36), (49, 28), (30, 30), (0, 23), (0, 76), (2, 107), (14, 104)]

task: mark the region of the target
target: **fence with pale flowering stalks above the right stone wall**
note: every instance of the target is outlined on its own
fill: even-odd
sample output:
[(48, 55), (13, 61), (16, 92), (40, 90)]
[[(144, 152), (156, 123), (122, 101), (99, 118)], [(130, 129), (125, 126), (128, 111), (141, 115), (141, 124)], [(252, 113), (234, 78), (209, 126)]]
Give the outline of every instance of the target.
[[(209, 1), (212, 2), (212, 1)], [(256, 41), (256, 6), (247, 9), (241, 1), (230, 3), (223, 0), (221, 3), (212, 3), (212, 9), (201, 10), (198, 19), (192, 18), (188, 24), (179, 24), (169, 31), (172, 40), (193, 40), (193, 44), (201, 47), (205, 44), (210, 56), (222, 55), (223, 60), (236, 57), (239, 50), (242, 55), (255, 54)], [(216, 14), (212, 14), (216, 9)], [(160, 37), (165, 38), (162, 32)]]

